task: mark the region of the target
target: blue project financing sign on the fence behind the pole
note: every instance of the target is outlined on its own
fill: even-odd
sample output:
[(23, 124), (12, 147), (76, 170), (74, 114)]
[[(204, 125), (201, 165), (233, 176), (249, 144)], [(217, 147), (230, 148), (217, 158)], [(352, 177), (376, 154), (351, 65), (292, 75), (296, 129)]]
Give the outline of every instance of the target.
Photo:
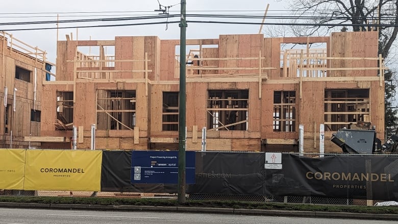
[[(185, 153), (186, 184), (195, 183), (195, 152)], [(133, 151), (131, 183), (178, 184), (178, 151)]]

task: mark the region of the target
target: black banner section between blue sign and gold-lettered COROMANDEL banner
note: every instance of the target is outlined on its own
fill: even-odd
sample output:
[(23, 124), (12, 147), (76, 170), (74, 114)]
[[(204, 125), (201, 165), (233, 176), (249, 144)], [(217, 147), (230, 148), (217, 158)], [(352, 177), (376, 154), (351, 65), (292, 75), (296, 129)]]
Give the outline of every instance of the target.
[(264, 153), (197, 152), (190, 193), (264, 194)]

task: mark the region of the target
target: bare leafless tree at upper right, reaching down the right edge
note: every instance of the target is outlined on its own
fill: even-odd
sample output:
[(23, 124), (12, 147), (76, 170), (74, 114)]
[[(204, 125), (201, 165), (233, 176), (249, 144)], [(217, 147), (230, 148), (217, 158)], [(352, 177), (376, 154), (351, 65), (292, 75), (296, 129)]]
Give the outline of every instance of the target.
[[(283, 2), (283, 0), (276, 0)], [(295, 36), (326, 35), (332, 31), (379, 31), (378, 53), (390, 62), (385, 71), (385, 130), (393, 133), (398, 126), (396, 116), (397, 74), (393, 57), (396, 55), (394, 41), (398, 33), (398, 0), (290, 0), (293, 19), (290, 23), (308, 23), (309, 26), (283, 27), (284, 33)], [(319, 26), (322, 24), (322, 26)], [(328, 24), (330, 24), (328, 26)], [(341, 27), (336, 26), (341, 24)], [(267, 33), (270, 33), (268, 28)], [(278, 33), (283, 33), (279, 31)], [(389, 55), (391, 53), (392, 55)], [(388, 57), (389, 56), (389, 57)]]

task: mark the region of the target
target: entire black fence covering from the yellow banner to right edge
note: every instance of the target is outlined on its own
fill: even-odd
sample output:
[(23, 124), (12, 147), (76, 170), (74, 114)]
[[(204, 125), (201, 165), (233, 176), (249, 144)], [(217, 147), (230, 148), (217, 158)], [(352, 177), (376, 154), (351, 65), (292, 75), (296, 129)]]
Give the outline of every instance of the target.
[[(104, 151), (101, 191), (177, 193), (177, 184), (131, 184), (131, 151)], [(282, 154), (264, 169), (265, 153), (196, 152), (193, 194), (321, 196), (398, 201), (398, 157)]]

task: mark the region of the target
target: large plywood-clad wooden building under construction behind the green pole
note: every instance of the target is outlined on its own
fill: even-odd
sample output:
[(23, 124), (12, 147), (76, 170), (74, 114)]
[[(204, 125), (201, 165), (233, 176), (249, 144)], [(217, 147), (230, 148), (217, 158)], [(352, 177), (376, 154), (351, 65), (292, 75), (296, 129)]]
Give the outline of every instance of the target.
[(187, 40), (183, 56), (179, 44), (156, 36), (58, 41), (57, 81), (39, 87), (41, 137), (30, 140), (70, 148), (74, 126), (77, 148), (90, 149), (95, 125), (97, 150), (177, 150), (181, 60), (187, 150), (201, 150), (204, 127), (208, 151), (297, 151), (303, 125), (304, 151), (318, 152), (325, 124), (325, 151), (341, 152), (331, 133), (357, 121), (371, 121), (384, 139), (377, 32), (219, 35)]

